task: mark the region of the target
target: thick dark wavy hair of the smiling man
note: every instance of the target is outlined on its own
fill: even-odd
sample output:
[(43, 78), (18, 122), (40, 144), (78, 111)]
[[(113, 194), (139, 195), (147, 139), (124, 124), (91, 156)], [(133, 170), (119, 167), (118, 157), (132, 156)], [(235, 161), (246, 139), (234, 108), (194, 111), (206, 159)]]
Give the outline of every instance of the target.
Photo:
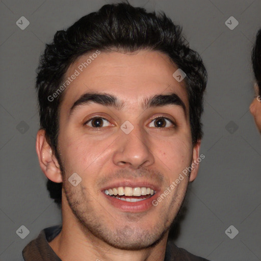
[[(175, 25), (164, 13), (146, 12), (129, 3), (104, 5), (97, 12), (83, 16), (67, 30), (58, 31), (54, 40), (45, 45), (37, 70), (40, 128), (62, 167), (58, 147), (59, 110), (63, 93), (50, 101), (63, 83), (65, 73), (77, 58), (89, 51), (133, 52), (141, 49), (161, 51), (187, 76), (190, 125), (193, 145), (202, 137), (201, 114), (207, 73), (196, 51), (189, 48)], [(62, 170), (62, 169), (61, 169)], [(50, 197), (61, 207), (62, 183), (47, 180)]]

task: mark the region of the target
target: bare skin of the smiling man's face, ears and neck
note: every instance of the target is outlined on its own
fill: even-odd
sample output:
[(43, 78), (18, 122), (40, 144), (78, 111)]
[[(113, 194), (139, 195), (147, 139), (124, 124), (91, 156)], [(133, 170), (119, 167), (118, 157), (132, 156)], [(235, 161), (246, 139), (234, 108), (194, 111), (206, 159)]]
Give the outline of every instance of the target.
[[(66, 76), (89, 55), (71, 64)], [(176, 69), (157, 51), (101, 52), (65, 90), (58, 138), (64, 173), (44, 131), (38, 132), (42, 171), (54, 182), (63, 181), (63, 229), (49, 243), (62, 260), (164, 260), (169, 227), (198, 165), (162, 202), (145, 211), (122, 211), (101, 190), (108, 182), (151, 182), (160, 195), (198, 158), (200, 141), (193, 147), (188, 96), (184, 81), (172, 76)], [(117, 111), (91, 102), (68, 117), (73, 103), (89, 91), (113, 94), (125, 107)], [(145, 97), (172, 92), (185, 103), (186, 114), (177, 105), (142, 109)], [(94, 116), (106, 119), (101, 131), (85, 124)], [(165, 127), (155, 127), (157, 116), (169, 118), (175, 127), (168, 120)], [(129, 134), (120, 128), (126, 120), (134, 126)], [(73, 187), (68, 178), (75, 172), (82, 181)]]

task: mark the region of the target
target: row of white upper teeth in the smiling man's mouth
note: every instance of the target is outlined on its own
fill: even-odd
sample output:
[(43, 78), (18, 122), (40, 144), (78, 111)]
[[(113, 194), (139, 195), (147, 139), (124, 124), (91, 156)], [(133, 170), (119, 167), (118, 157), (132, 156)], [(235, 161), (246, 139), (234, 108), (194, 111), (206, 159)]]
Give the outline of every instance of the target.
[(141, 195), (153, 195), (154, 194), (154, 190), (150, 189), (150, 188), (130, 188), (130, 187), (119, 187), (119, 188), (113, 188), (113, 189), (108, 189), (105, 190), (104, 193), (106, 195), (119, 195), (119, 196), (141, 196)]

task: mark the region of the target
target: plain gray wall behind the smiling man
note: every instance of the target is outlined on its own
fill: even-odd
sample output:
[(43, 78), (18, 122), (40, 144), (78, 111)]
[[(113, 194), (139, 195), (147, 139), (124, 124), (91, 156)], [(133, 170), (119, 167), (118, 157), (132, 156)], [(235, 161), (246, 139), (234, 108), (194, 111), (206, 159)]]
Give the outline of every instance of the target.
[[(3, 261), (18, 260), (21, 250), (41, 229), (61, 223), (60, 211), (45, 188), (47, 178), (40, 170), (35, 151), (39, 126), (35, 69), (44, 43), (50, 42), (57, 30), (112, 2), (0, 1), (0, 259)], [(201, 146), (205, 159), (190, 189), (188, 211), (176, 244), (211, 260), (261, 260), (261, 137), (248, 109), (254, 96), (250, 52), (261, 27), (261, 2), (130, 0), (129, 3), (162, 10), (182, 25), (209, 75)], [(30, 21), (25, 30), (16, 25), (21, 16)], [(225, 25), (230, 16), (239, 21), (234, 30)], [(21, 225), (30, 230), (23, 240), (16, 234)], [(239, 230), (234, 239), (225, 233), (230, 225)]]

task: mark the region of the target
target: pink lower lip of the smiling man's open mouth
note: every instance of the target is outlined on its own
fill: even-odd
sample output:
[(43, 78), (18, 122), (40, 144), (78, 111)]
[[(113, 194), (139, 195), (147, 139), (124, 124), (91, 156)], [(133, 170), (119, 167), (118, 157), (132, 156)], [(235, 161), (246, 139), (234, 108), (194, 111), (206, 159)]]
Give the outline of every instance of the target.
[(142, 212), (148, 210), (152, 205), (152, 201), (156, 198), (156, 194), (152, 197), (138, 201), (138, 202), (128, 202), (111, 197), (102, 192), (103, 195), (108, 199), (108, 201), (115, 207), (119, 208), (121, 211), (125, 212)]

